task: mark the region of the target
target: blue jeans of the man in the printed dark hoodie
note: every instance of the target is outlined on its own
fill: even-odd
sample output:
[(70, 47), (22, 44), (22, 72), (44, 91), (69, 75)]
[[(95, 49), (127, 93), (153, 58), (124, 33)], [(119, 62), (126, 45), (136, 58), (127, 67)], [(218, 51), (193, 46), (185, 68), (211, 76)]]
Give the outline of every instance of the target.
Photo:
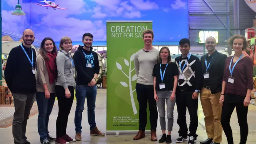
[(84, 110), (85, 98), (87, 98), (87, 115), (90, 130), (96, 127), (95, 122), (95, 101), (97, 95), (96, 85), (90, 87), (87, 85), (76, 85), (76, 112), (75, 112), (75, 126), (76, 133), (82, 133), (82, 112)]

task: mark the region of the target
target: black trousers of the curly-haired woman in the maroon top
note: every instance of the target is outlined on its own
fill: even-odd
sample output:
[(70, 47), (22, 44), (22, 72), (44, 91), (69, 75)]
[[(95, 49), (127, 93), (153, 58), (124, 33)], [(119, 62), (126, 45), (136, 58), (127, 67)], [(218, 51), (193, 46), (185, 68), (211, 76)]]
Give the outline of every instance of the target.
[(247, 136), (248, 136), (248, 123), (247, 123), (247, 113), (248, 107), (244, 107), (244, 102), (229, 102), (226, 100), (226, 96), (222, 106), (221, 113), (221, 124), (225, 135), (228, 140), (228, 144), (234, 144), (232, 129), (230, 127), (230, 118), (231, 115), (236, 108), (236, 114), (238, 123), (240, 126), (240, 144), (246, 144)]

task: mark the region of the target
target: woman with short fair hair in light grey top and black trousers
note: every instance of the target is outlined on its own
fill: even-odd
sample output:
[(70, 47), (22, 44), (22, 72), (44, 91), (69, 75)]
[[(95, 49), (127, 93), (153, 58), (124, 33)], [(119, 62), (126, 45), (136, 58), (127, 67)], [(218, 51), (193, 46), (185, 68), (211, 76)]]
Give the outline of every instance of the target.
[(74, 63), (69, 51), (72, 49), (72, 41), (68, 36), (60, 40), (60, 52), (56, 58), (58, 78), (56, 81), (56, 96), (59, 104), (59, 114), (56, 120), (56, 144), (69, 144), (75, 142), (66, 134), (68, 115), (74, 100), (75, 78)]

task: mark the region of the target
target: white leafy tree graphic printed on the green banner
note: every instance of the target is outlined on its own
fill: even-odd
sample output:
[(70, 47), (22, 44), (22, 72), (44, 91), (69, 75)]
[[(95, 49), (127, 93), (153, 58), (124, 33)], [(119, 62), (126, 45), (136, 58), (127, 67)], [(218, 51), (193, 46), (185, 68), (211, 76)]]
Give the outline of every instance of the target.
[[(128, 62), (128, 60), (124, 59), (124, 64), (129, 66), (129, 76), (124, 73), (124, 71), (122, 70), (122, 66), (119, 63), (116, 63), (116, 67), (118, 69), (120, 69), (124, 73), (124, 75), (129, 79), (129, 91), (130, 91), (130, 97), (131, 97), (131, 102), (132, 102), (132, 110), (133, 110), (133, 113), (135, 115), (135, 114), (138, 113), (137, 109), (136, 109), (136, 106), (135, 106), (135, 103), (134, 103), (134, 98), (133, 98), (133, 92), (135, 92), (136, 89), (132, 90), (132, 81), (137, 80), (137, 75), (135, 74), (131, 78), (131, 73), (135, 69), (135, 68), (133, 68), (131, 70), (131, 64), (132, 64), (132, 61), (134, 60), (134, 55), (135, 55), (135, 53), (132, 54), (132, 56), (130, 57), (130, 63)], [(126, 82), (120, 81), (120, 84), (122, 84), (124, 87), (128, 87), (128, 84)]]

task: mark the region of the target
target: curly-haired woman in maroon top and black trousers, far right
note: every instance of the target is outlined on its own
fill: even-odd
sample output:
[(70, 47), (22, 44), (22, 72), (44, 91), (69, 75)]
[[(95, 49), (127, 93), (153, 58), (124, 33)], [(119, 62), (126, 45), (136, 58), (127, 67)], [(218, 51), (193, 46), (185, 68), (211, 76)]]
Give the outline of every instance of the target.
[(221, 124), (228, 144), (234, 144), (230, 118), (236, 108), (238, 123), (240, 126), (240, 144), (246, 144), (248, 136), (247, 113), (250, 104), (252, 83), (252, 60), (244, 56), (242, 51), (248, 47), (244, 36), (235, 35), (228, 40), (228, 44), (234, 49), (234, 56), (226, 59), (220, 103), (223, 105)]

